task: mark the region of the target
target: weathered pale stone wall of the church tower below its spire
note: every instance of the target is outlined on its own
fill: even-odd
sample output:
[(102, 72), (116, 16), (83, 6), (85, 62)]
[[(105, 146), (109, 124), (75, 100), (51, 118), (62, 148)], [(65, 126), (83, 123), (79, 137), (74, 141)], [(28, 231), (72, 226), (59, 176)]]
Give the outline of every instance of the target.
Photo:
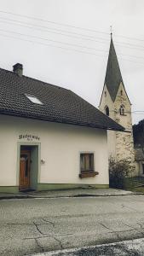
[[(124, 106), (124, 115), (119, 112), (120, 106)], [(107, 131), (108, 154), (116, 160), (128, 160), (133, 167), (135, 175), (135, 154), (132, 133), (131, 105), (124, 89), (124, 85), (119, 84), (118, 93), (114, 102), (107, 90), (105, 84), (101, 96), (100, 110), (106, 113), (105, 107), (109, 108), (109, 117), (115, 120), (119, 125), (123, 125), (126, 131)]]

